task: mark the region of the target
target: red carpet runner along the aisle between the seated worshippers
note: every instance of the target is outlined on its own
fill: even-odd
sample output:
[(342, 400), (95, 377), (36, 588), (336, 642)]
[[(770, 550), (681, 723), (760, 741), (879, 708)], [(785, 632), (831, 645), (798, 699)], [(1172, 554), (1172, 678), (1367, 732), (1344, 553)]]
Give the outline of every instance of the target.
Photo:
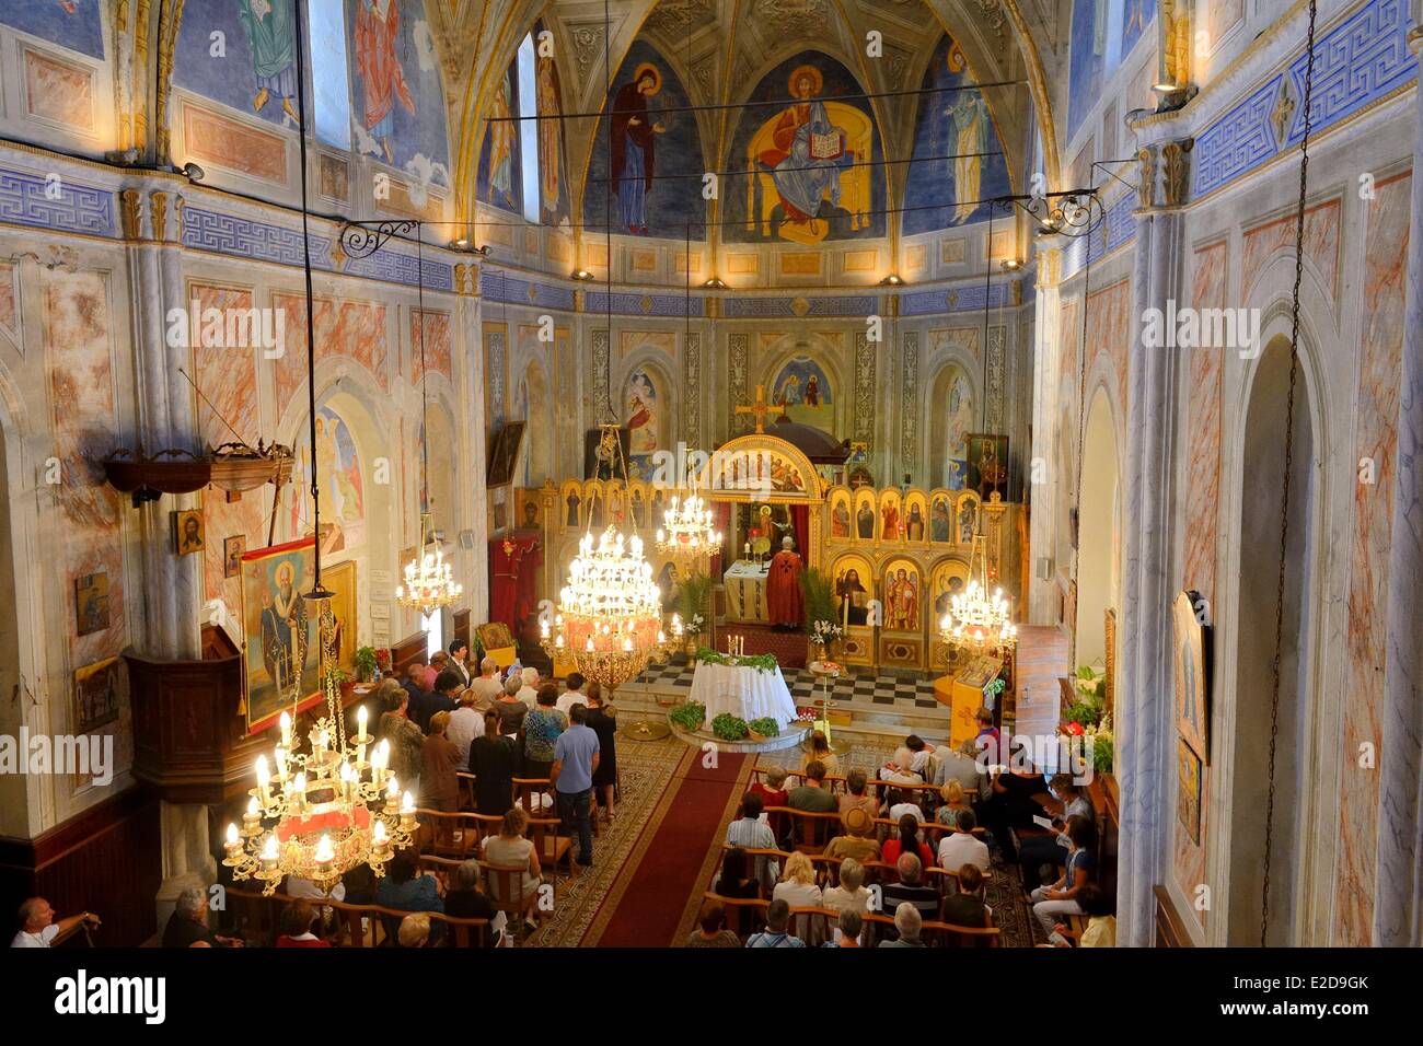
[[(675, 942), (692, 905), (692, 894), (704, 889), (709, 854), (720, 841), (729, 810), (740, 798), (746, 756), (721, 754), (716, 767), (704, 767), (703, 753), (687, 751), (657, 813), (643, 830), (628, 871), (626, 885), (603, 902), (583, 946), (666, 948)], [(680, 944), (680, 942), (677, 942)]]

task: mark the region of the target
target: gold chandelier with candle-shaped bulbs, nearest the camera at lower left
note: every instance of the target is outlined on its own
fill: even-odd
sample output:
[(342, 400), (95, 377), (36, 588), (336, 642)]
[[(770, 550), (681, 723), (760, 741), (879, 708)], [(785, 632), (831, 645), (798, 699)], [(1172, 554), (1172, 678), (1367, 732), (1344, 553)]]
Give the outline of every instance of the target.
[[(394, 851), (416, 833), (416, 800), (388, 766), (390, 743), (373, 747), (366, 733), (366, 707), (356, 712), (357, 736), (346, 737), (340, 686), (334, 673), (336, 618), (330, 593), (313, 592), (320, 635), (326, 716), (312, 727), (310, 750), (296, 751), (292, 716), (282, 713), (282, 743), (272, 761), (256, 759), (258, 784), (249, 790), (242, 827), (228, 824), (226, 858), (235, 879), (255, 878), (263, 894), (276, 892), (287, 875), (309, 879), (330, 892), (342, 875), (369, 864), (380, 877)], [(307, 598), (307, 596), (303, 596)], [(293, 703), (300, 675), (292, 673)]]

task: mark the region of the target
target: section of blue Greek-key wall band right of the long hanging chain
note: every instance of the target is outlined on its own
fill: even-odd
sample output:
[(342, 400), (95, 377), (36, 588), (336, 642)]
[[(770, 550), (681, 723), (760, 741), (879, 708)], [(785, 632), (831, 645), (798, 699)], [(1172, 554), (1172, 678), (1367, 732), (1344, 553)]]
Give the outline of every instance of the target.
[[(1407, 0), (1376, 0), (1315, 44), (1315, 84), (1311, 108), (1318, 132), (1417, 75), (1417, 58), (1409, 51)], [(1301, 54), (1289, 65), (1295, 97), (1305, 97), (1305, 63)], [(1305, 137), (1305, 111), (1295, 112), (1289, 145)]]

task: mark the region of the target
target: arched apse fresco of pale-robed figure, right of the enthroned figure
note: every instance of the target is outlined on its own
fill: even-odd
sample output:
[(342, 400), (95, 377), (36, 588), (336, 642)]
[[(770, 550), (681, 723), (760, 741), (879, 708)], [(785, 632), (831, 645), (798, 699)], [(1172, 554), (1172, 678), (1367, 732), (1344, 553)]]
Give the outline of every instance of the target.
[(983, 93), (952, 90), (972, 83), (963, 53), (945, 36), (924, 74), (915, 162), (905, 185), (905, 235), (988, 221), (992, 208), (978, 201), (1013, 191)]

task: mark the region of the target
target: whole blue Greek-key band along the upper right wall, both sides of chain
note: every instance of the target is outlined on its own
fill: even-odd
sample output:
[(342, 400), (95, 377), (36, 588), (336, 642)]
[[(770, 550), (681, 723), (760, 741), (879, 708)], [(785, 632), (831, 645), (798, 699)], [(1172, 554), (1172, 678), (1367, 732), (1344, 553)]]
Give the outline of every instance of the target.
[[(1417, 77), (1419, 64), (1409, 53), (1413, 26), (1409, 0), (1369, 0), (1315, 43), (1315, 83), (1311, 124), (1315, 132), (1348, 118), (1360, 108)], [(1288, 67), (1291, 117), (1285, 147), (1305, 135), (1303, 48)], [(1200, 198), (1239, 178), (1281, 151), (1272, 124), (1285, 74), (1275, 74), (1195, 137), (1192, 195)]]

